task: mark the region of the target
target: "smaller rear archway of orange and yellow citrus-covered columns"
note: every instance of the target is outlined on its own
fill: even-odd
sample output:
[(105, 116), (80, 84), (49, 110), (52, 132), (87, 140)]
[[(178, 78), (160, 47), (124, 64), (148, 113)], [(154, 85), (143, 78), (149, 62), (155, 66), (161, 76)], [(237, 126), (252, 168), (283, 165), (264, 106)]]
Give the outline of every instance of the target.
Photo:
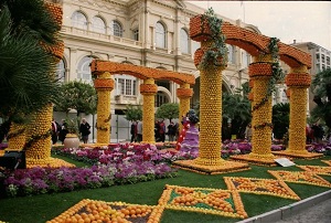
[(143, 95), (142, 104), (142, 142), (154, 144), (154, 95), (158, 92), (156, 79), (169, 79), (180, 85), (177, 96), (180, 98), (180, 116), (190, 109), (190, 98), (195, 84), (192, 74), (164, 71), (132, 64), (121, 64), (110, 61), (94, 60), (90, 65), (95, 88), (98, 93), (97, 105), (97, 144), (110, 142), (110, 92), (114, 89), (113, 74), (128, 74), (143, 79), (140, 93)]

